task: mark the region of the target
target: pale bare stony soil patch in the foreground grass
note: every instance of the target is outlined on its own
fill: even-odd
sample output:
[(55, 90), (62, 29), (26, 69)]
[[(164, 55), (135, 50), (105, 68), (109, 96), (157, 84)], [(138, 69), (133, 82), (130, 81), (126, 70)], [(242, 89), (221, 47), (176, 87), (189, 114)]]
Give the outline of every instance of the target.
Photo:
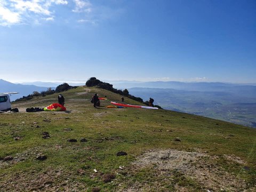
[[(243, 164), (244, 162), (237, 157), (226, 156), (227, 159)], [(219, 165), (214, 164), (217, 156), (209, 156), (201, 152), (178, 151), (175, 149), (149, 151), (137, 158), (132, 166), (136, 170), (146, 167), (154, 167), (158, 178), (174, 178), (174, 172), (178, 172), (184, 177), (195, 181), (204, 190), (210, 191), (252, 191), (245, 190), (246, 183), (243, 179), (233, 173), (228, 173)], [(124, 191), (154, 191), (156, 184), (144, 187), (141, 183), (131, 185)], [(255, 189), (255, 188), (254, 188)], [(175, 191), (189, 191), (188, 188), (175, 185)]]

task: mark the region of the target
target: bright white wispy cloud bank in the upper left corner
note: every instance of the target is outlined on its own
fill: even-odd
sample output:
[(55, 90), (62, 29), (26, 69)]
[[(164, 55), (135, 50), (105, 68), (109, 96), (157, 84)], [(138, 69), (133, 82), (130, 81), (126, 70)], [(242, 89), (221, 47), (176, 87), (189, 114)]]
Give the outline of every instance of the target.
[(78, 23), (95, 23), (89, 20), (93, 18), (89, 0), (0, 0), (0, 26), (54, 21), (61, 6), (67, 6), (70, 14), (81, 16)]

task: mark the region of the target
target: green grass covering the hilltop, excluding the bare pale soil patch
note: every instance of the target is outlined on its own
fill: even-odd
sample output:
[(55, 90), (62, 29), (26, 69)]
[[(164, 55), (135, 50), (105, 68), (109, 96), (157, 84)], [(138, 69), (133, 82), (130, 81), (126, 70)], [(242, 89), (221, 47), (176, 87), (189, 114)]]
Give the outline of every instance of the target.
[[(66, 185), (69, 189), (79, 188), (72, 184), (79, 183), (81, 190), (90, 191), (92, 187), (100, 187), (106, 191), (116, 190), (119, 188), (118, 183), (113, 185), (104, 183), (100, 174), (117, 172), (121, 165), (129, 167), (130, 163), (145, 151), (170, 148), (183, 151), (207, 151), (211, 156), (220, 156), (217, 162), (220, 167), (234, 172), (247, 183), (253, 182), (256, 168), (254, 129), (168, 110), (104, 107), (94, 109), (90, 99), (95, 92), (99, 93), (100, 97), (107, 95), (109, 100), (121, 99), (120, 95), (106, 90), (78, 87), (62, 93), (66, 98), (65, 106), (71, 110), (69, 114), (63, 112), (1, 114), (0, 157), (12, 155), (19, 159), (23, 158), (19, 162), (0, 164), (2, 189), (22, 191), (28, 185), (31, 187), (29, 190), (43, 190), (45, 188), (40, 189), (43, 186), (42, 182), (51, 180), (53, 187), (50, 189), (55, 187), (65, 190), (65, 186), (61, 187), (61, 185), (69, 178), (72, 181), (70, 183), (68, 181)], [(37, 100), (41, 102), (37, 101), (37, 104), (42, 107), (50, 105), (51, 103), (46, 99), (57, 101), (57, 94), (39, 98)], [(34, 103), (31, 105), (29, 102), (18, 102), (17, 105), (41, 107)], [(138, 102), (127, 98), (125, 102), (139, 105)], [(109, 101), (101, 103), (102, 106), (110, 104)], [(50, 122), (44, 121), (45, 119)], [(49, 132), (51, 138), (43, 139), (42, 132)], [(20, 136), (22, 139), (15, 141), (13, 139), (15, 136)], [(181, 142), (175, 142), (173, 140), (175, 137), (181, 138)], [(71, 138), (78, 140), (86, 138), (88, 142), (67, 142)], [(128, 155), (117, 157), (115, 155), (117, 151), (126, 151)], [(48, 157), (43, 162), (35, 159), (40, 153)], [(250, 167), (250, 172), (241, 171), (243, 169), (241, 165), (227, 164), (222, 158), (223, 155), (240, 157), (246, 162), (246, 166)], [(97, 169), (99, 174), (94, 174), (93, 169)], [(84, 173), (81, 175), (78, 170)], [(57, 178), (54, 176), (55, 172), (60, 173)], [(15, 181), (12, 178), (14, 173), (22, 175), (22, 178), (18, 177)], [(130, 179), (117, 175), (116, 181), (126, 182), (128, 185), (133, 179), (144, 180), (151, 172), (144, 170), (138, 174), (139, 178), (137, 173), (134, 173), (134, 177)], [(38, 178), (42, 175), (46, 175), (47, 178), (40, 182)], [(11, 185), (10, 181), (14, 184)], [(20, 186), (15, 182), (19, 182)], [(164, 183), (163, 180), (159, 182)], [(193, 185), (197, 186), (196, 183)]]

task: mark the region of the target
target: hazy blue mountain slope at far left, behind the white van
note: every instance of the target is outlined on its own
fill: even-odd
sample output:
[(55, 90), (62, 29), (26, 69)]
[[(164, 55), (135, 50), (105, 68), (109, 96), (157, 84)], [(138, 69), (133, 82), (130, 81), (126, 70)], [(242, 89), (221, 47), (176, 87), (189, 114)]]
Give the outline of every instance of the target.
[[(33, 91), (47, 91), (47, 87), (43, 86), (35, 86), (35, 85), (22, 85), (22, 84), (15, 84), (11, 82), (4, 81), (3, 79), (0, 79), (0, 93), (4, 92), (19, 92), (19, 94), (13, 94), (11, 95), (11, 101), (14, 101), (15, 99), (21, 98), (23, 96), (27, 96)], [(51, 87), (52, 89), (55, 89), (55, 87)]]

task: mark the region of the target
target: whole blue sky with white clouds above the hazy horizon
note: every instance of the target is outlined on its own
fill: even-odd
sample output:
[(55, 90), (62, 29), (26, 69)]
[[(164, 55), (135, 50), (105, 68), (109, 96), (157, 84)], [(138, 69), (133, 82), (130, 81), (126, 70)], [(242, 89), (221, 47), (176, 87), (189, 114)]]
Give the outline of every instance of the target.
[(256, 83), (255, 0), (0, 0), (10, 82)]

